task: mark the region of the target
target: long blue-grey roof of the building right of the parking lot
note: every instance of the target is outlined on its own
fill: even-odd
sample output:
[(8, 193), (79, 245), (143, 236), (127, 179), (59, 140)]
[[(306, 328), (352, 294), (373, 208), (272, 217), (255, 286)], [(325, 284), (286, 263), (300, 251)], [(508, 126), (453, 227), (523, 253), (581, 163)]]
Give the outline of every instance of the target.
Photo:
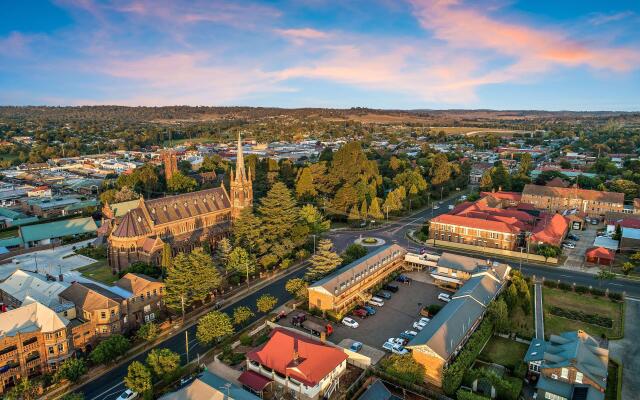
[(428, 346), (448, 360), (471, 327), (482, 318), (487, 305), (500, 292), (503, 284), (504, 280), (497, 282), (491, 271), (474, 275), (407, 346)]

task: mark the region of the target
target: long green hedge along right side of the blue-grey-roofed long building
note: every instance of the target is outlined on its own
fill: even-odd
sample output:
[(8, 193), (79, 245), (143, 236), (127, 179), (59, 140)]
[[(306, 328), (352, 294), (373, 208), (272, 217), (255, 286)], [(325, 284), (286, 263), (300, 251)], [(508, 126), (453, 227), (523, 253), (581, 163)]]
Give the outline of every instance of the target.
[(493, 335), (493, 324), (485, 319), (480, 327), (471, 335), (453, 363), (446, 367), (442, 374), (442, 390), (451, 396), (460, 387), (466, 370), (473, 364), (484, 345)]

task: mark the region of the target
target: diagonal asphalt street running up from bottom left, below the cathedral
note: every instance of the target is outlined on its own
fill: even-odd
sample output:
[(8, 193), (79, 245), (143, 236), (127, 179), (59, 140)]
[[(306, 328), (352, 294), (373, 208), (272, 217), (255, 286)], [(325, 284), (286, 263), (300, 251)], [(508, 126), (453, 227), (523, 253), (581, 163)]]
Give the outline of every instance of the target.
[[(306, 268), (302, 268), (295, 272), (291, 272), (288, 275), (284, 275), (281, 278), (273, 281), (270, 285), (265, 286), (264, 288), (256, 291), (255, 293), (250, 294), (249, 296), (238, 300), (235, 303), (228, 304), (224, 306), (221, 310), (231, 312), (235, 307), (238, 306), (247, 306), (255, 311), (255, 304), (258, 297), (262, 296), (265, 293), (272, 294), (278, 298), (278, 306), (284, 304), (285, 302), (291, 299), (291, 295), (285, 290), (284, 286), (287, 280), (291, 278), (299, 278), (304, 275)], [(257, 315), (250, 320), (250, 323), (258, 320), (264, 314), (257, 313)], [(196, 326), (190, 326), (186, 329), (181, 328), (179, 334), (172, 336), (165, 341), (159, 343), (155, 348), (168, 348), (176, 353), (180, 354), (182, 357), (183, 363), (186, 361), (186, 340), (184, 331), (188, 331), (189, 337), (189, 358), (193, 360), (197, 357), (198, 352), (204, 352), (203, 349), (196, 340)], [(145, 351), (144, 353), (138, 355), (131, 361), (141, 361), (144, 362), (147, 358), (147, 354), (152, 349)], [(82, 387), (80, 387), (77, 392), (83, 393), (84, 398), (87, 400), (109, 400), (117, 398), (124, 390), (124, 377), (127, 375), (127, 368), (129, 367), (129, 363), (121, 365), (107, 374), (100, 376), (99, 378), (86, 383)]]

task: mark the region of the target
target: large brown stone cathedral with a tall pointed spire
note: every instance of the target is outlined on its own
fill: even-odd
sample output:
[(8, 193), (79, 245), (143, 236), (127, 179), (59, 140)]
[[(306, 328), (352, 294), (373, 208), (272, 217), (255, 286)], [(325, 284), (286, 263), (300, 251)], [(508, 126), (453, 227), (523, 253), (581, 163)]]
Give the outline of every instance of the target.
[(165, 243), (174, 254), (191, 251), (204, 243), (215, 246), (229, 234), (232, 222), (242, 210), (253, 205), (251, 171), (247, 173), (245, 169), (240, 135), (229, 192), (222, 184), (213, 189), (127, 203), (132, 204), (121, 216), (106, 213), (105, 227), (110, 231), (108, 259), (114, 273), (137, 261), (160, 264)]

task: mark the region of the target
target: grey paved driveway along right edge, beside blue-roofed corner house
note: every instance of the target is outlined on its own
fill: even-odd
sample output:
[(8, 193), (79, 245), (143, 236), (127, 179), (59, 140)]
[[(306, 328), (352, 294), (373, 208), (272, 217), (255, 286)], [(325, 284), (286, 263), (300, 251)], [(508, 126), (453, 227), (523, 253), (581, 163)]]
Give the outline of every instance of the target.
[(609, 342), (610, 354), (622, 362), (622, 398), (636, 399), (640, 393), (640, 300), (627, 298), (624, 338)]

